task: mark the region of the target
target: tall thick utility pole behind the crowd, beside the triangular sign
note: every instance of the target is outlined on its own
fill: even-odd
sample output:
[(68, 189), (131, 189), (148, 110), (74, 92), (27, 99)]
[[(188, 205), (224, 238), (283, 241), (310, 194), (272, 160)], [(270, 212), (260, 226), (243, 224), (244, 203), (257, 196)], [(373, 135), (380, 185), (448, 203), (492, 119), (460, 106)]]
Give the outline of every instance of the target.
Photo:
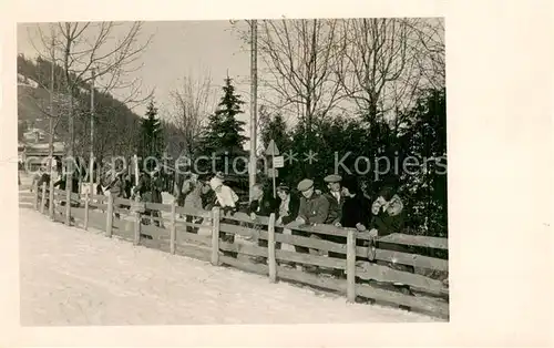
[(249, 161), (249, 201), (252, 202), (252, 188), (256, 184), (257, 172), (257, 112), (258, 112), (258, 21), (250, 20), (250, 161)]

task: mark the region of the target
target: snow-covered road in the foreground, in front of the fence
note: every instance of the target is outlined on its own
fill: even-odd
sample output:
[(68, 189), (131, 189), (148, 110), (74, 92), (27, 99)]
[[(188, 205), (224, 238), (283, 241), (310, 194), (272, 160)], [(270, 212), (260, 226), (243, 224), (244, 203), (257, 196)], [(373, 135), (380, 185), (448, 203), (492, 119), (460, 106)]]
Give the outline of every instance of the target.
[(430, 321), (66, 227), (20, 209), (21, 324)]

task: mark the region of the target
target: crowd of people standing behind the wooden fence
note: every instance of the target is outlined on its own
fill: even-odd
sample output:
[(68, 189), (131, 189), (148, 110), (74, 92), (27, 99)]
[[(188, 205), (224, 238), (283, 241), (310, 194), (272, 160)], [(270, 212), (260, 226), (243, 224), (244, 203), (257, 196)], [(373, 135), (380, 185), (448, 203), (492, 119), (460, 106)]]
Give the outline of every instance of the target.
[[(60, 172), (60, 171), (58, 171)], [(54, 180), (54, 187), (65, 190), (66, 175), (55, 175), (50, 177), (48, 171), (42, 171), (35, 180), (38, 185)], [(322, 238), (335, 243), (346, 243), (342, 236), (309, 234), (296, 231), (298, 226), (332, 225), (336, 227), (356, 228), (359, 233), (367, 234), (370, 238), (377, 238), (391, 233), (400, 233), (403, 228), (403, 204), (393, 187), (383, 187), (372, 201), (366, 195), (356, 177), (341, 177), (331, 174), (325, 177), (327, 187), (317, 188), (312, 180), (305, 178), (296, 185), (296, 190), (287, 185), (278, 185), (276, 197), (261, 184), (252, 187), (252, 199), (246, 206), (239, 205), (238, 195), (226, 185), (225, 175), (217, 172), (213, 175), (198, 175), (185, 173), (178, 175), (174, 181), (173, 196), (177, 205), (195, 211), (209, 211), (214, 206), (222, 209), (222, 216), (233, 215), (236, 212), (244, 212), (253, 221), (257, 216), (276, 216), (276, 225), (289, 227), (296, 235), (311, 238)], [(137, 184), (136, 184), (137, 183)], [(79, 176), (72, 177), (72, 191), (80, 192)], [(107, 172), (102, 175), (100, 184), (96, 185), (96, 195), (107, 192), (114, 198), (138, 199), (141, 202), (162, 204), (162, 192), (168, 191), (164, 182), (161, 170), (156, 168), (150, 174), (141, 173), (135, 181), (126, 171)], [(296, 191), (296, 192), (295, 192)], [(48, 201), (47, 201), (48, 206)], [(129, 205), (117, 205), (119, 208), (130, 208)], [(156, 226), (163, 227), (161, 214), (156, 209), (145, 209), (143, 223), (151, 221)], [(115, 213), (119, 217), (119, 213)], [(182, 216), (183, 217), (183, 216)], [(188, 223), (198, 223), (187, 215)], [(187, 227), (188, 232), (196, 232), (197, 228)], [(281, 228), (279, 228), (281, 231)], [(229, 239), (232, 236), (223, 234), (223, 238)], [(260, 246), (266, 246), (267, 240), (259, 240)], [(279, 248), (280, 245), (277, 245)], [(316, 253), (315, 249), (296, 246), (298, 253)], [(332, 253), (331, 253), (332, 254)], [(340, 257), (340, 255), (334, 255)]]

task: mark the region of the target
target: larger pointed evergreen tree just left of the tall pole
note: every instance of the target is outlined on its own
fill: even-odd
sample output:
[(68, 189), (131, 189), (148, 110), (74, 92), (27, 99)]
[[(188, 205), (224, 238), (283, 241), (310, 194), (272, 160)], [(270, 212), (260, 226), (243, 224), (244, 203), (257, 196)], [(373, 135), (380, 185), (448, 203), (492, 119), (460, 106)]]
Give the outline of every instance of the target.
[(224, 95), (215, 113), (209, 115), (202, 140), (201, 149), (205, 154), (214, 152), (236, 154), (242, 152), (243, 144), (247, 140), (240, 134), (246, 123), (236, 119), (236, 115), (243, 113), (240, 106), (244, 101), (236, 94), (230, 78), (225, 79), (223, 91)]

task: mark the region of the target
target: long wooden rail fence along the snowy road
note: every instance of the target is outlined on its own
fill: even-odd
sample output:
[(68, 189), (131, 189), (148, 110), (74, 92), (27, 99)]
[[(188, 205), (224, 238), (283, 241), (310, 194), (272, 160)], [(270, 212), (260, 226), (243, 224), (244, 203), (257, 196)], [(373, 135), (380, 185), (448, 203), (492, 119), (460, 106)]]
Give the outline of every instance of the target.
[[(342, 294), (348, 301), (401, 306), (449, 318), (445, 238), (392, 234), (370, 243), (369, 236), (355, 229), (276, 225), (273, 214), (252, 221), (244, 213), (228, 216), (218, 208), (193, 211), (175, 203), (89, 194), (70, 198), (68, 205), (65, 191), (49, 194), (43, 186), (34, 190), (33, 206), (54, 221), (95, 228), (134, 245), (268, 276), (270, 282)], [(148, 211), (160, 216), (148, 217), (144, 214)], [(441, 253), (442, 257), (437, 256)]]

